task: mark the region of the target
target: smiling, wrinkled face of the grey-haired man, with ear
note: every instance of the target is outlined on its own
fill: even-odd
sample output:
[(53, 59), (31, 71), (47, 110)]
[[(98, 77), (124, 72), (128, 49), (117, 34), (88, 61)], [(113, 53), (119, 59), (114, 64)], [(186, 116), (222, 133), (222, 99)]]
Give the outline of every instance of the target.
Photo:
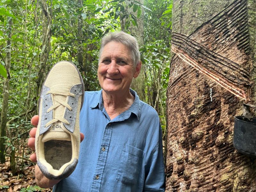
[(130, 53), (126, 46), (111, 41), (103, 48), (99, 67), (98, 78), (101, 88), (107, 93), (126, 92), (140, 73), (139, 64), (133, 67)]

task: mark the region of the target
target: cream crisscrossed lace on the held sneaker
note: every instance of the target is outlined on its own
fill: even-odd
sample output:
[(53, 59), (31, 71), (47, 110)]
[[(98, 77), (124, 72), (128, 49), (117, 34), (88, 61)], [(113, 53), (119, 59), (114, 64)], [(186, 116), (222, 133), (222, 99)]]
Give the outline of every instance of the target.
[[(53, 95), (64, 95), (64, 96), (71, 96), (71, 97), (75, 97), (75, 94), (73, 93), (67, 93), (67, 92), (59, 92), (59, 91), (48, 91), (46, 94), (52, 93)], [(68, 105), (68, 103), (59, 100), (57, 98), (54, 98), (55, 104), (52, 105), (52, 107), (50, 107), (46, 112), (49, 113), (52, 109), (55, 109), (56, 107), (63, 105), (65, 107), (67, 107), (70, 111), (72, 110), (72, 108), (70, 107), (70, 105)], [(55, 116), (53, 117), (53, 119), (51, 121), (49, 121), (48, 123), (45, 124), (45, 127), (48, 127), (50, 124), (55, 123), (56, 121), (60, 121), (63, 122), (65, 124), (70, 124), (65, 118), (63, 117), (59, 117), (59, 116)]]

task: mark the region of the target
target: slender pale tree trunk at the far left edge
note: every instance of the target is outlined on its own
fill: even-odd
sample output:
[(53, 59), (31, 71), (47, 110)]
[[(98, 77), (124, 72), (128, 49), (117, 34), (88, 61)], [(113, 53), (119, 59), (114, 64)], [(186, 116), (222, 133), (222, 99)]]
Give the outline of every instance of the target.
[[(12, 38), (12, 19), (8, 20), (8, 29), (7, 29), (8, 39), (6, 47), (6, 56), (5, 56), (5, 65), (7, 71), (10, 73), (11, 68), (11, 38)], [(9, 99), (9, 87), (10, 87), (10, 75), (4, 81), (3, 88), (3, 103), (2, 103), (2, 112), (1, 112), (1, 122), (0, 122), (0, 163), (5, 163), (5, 139), (6, 137), (6, 123), (7, 123), (7, 111), (8, 111), (8, 99)]]

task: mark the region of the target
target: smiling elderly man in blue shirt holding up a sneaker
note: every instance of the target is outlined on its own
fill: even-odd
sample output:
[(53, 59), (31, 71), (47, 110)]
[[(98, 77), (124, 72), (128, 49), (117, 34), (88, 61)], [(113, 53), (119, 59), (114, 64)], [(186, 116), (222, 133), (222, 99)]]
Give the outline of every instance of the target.
[[(98, 79), (101, 90), (85, 92), (80, 131), (85, 139), (75, 171), (49, 180), (36, 166), (39, 186), (53, 191), (164, 191), (162, 130), (156, 111), (130, 89), (140, 73), (134, 37), (108, 33), (101, 41)], [(38, 123), (38, 116), (31, 120)], [(28, 145), (34, 148), (35, 129)], [(81, 140), (84, 135), (81, 134)], [(35, 154), (31, 159), (36, 161)]]

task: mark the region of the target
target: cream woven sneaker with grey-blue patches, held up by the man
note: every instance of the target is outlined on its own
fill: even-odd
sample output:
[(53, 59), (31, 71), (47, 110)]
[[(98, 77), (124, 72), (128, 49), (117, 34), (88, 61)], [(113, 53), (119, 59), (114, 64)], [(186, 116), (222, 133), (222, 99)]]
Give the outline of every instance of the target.
[(42, 85), (36, 131), (37, 164), (48, 179), (64, 179), (76, 168), (83, 101), (84, 83), (76, 66), (55, 64)]

